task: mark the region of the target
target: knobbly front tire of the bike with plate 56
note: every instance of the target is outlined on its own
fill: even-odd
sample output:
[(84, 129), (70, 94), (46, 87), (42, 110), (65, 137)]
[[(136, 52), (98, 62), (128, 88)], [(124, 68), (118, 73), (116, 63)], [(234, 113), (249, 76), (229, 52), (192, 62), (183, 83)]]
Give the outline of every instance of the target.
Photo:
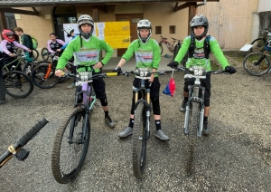
[[(193, 94), (198, 96), (198, 91)], [(186, 172), (188, 175), (192, 175), (194, 166), (194, 150), (196, 145), (196, 139), (198, 138), (197, 132), (199, 128), (199, 115), (200, 115), (200, 103), (192, 101), (191, 104), (191, 115), (189, 122), (188, 132), (188, 148), (187, 148), (187, 159), (186, 159)]]

